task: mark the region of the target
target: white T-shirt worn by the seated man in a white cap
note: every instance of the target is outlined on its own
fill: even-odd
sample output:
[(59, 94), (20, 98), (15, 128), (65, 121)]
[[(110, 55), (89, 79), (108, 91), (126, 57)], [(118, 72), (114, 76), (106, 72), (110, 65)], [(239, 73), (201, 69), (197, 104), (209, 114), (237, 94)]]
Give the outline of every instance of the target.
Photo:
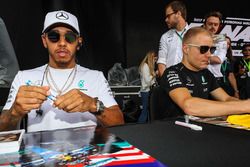
[[(9, 110), (15, 101), (17, 91), (21, 85), (26, 85), (27, 81), (34, 84), (47, 86), (45, 69), (47, 65), (25, 71), (19, 71), (16, 75), (9, 93), (8, 100), (4, 110)], [(59, 88), (62, 88), (72, 69), (53, 69), (50, 67), (51, 75)], [(70, 79), (70, 78), (69, 78)], [(113, 98), (112, 92), (107, 80), (100, 71), (90, 70), (77, 65), (76, 76), (72, 85), (66, 92), (71, 89), (80, 89), (83, 93), (91, 97), (98, 97), (106, 107), (117, 105)], [(51, 94), (57, 96), (57, 93), (50, 89)], [(36, 110), (31, 110), (28, 114), (28, 132), (73, 128), (96, 124), (96, 117), (90, 112), (67, 113), (52, 106), (50, 99), (46, 100), (41, 109), (42, 116), (38, 116)]]

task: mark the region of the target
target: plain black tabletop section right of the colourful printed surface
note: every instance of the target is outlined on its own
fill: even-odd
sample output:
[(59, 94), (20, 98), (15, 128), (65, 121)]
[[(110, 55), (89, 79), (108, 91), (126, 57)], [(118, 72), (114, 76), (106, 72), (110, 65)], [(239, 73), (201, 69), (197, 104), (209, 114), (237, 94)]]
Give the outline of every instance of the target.
[(192, 122), (203, 128), (195, 131), (174, 122), (153, 121), (109, 130), (170, 167), (250, 166), (250, 131)]

